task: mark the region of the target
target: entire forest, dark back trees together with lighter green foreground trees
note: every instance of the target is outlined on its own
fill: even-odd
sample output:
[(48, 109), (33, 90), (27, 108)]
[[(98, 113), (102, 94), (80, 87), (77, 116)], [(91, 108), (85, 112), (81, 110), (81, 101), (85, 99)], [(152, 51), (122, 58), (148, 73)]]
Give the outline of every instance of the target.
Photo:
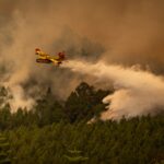
[(110, 93), (81, 82), (61, 101), (48, 87), (31, 110), (12, 113), (1, 86), (0, 164), (163, 164), (163, 113), (101, 120)]

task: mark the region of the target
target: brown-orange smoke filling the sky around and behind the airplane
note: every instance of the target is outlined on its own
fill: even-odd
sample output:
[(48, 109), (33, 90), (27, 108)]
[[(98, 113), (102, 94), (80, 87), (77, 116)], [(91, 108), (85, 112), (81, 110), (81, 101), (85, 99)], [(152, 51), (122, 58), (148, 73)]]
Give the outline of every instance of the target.
[(5, 74), (0, 70), (0, 82), (16, 94), (15, 109), (32, 106), (34, 95), (48, 86), (66, 98), (81, 81), (68, 70), (36, 65), (36, 47), (48, 54), (66, 50), (68, 59), (149, 65), (163, 73), (163, 0), (1, 0), (0, 66)]

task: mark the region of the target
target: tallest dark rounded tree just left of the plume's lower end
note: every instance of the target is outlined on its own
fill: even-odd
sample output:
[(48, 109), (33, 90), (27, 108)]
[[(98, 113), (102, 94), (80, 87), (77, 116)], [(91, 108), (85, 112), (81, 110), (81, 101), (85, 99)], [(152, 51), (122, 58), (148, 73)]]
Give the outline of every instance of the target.
[(70, 122), (87, 121), (94, 116), (98, 116), (105, 108), (102, 99), (108, 93), (109, 91), (96, 91), (85, 82), (80, 83), (66, 101), (65, 110)]

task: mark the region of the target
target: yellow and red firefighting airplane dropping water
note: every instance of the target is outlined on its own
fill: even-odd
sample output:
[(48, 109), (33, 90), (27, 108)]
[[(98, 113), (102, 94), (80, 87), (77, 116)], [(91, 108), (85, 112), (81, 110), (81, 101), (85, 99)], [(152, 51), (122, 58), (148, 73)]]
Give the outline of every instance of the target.
[(60, 63), (62, 63), (62, 61), (66, 59), (65, 58), (65, 52), (58, 52), (57, 57), (51, 57), (50, 55), (42, 51), (39, 48), (35, 49), (35, 55), (38, 56), (38, 58), (36, 59), (36, 62), (40, 62), (40, 63), (55, 63), (57, 66), (60, 66)]

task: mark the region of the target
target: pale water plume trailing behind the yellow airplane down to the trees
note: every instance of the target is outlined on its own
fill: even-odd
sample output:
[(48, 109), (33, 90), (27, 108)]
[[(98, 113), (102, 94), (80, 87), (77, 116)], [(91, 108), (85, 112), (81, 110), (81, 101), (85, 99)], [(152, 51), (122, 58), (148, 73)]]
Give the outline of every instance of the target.
[(113, 82), (116, 91), (104, 97), (103, 103), (108, 106), (102, 114), (102, 119), (156, 114), (159, 109), (164, 109), (164, 79), (148, 70), (124, 68), (103, 61), (92, 65), (72, 60), (63, 67), (96, 77), (102, 83)]

